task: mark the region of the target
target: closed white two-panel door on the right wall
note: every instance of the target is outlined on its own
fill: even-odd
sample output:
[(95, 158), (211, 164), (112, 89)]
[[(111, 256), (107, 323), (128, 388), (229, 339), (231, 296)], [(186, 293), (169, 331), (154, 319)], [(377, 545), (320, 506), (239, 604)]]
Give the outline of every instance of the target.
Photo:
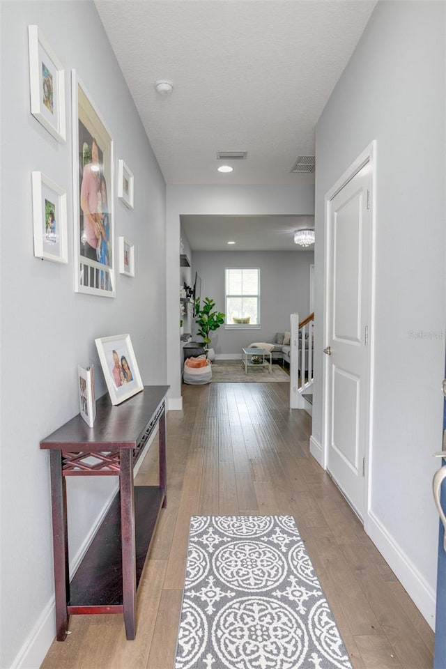
[(328, 203), (328, 470), (364, 517), (369, 425), (371, 167)]

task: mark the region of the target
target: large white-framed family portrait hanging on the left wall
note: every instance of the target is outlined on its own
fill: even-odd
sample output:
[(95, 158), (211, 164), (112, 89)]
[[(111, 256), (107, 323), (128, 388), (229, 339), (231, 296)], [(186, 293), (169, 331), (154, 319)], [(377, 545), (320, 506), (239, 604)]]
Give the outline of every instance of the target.
[(114, 298), (113, 140), (72, 70), (75, 291)]

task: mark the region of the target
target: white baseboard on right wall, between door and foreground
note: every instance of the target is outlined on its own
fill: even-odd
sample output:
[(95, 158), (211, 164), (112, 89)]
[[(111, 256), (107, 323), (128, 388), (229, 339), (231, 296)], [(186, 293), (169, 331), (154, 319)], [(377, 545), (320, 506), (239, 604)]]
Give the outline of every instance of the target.
[(426, 582), (415, 565), (410, 562), (401, 546), (394, 541), (383, 523), (372, 511), (369, 511), (366, 516), (364, 530), (383, 555), (390, 569), (394, 571), (409, 597), (413, 599), (415, 606), (420, 610), (426, 622), (435, 630), (436, 594), (429, 583)]

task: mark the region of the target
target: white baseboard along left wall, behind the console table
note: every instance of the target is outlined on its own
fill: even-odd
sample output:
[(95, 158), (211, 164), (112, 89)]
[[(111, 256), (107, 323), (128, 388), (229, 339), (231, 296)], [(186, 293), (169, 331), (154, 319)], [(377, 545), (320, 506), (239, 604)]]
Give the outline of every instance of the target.
[[(136, 475), (139, 468), (141, 467), (142, 461), (148, 452), (148, 449), (151, 447), (155, 436), (158, 433), (158, 426), (151, 434), (150, 438), (147, 440), (146, 445), (144, 446), (143, 452), (139, 456), (136, 466), (134, 467), (134, 474)], [(77, 551), (75, 557), (73, 557), (70, 564), (70, 574), (75, 574), (77, 567), (82, 562), (82, 559), (88, 550), (91, 541), (95, 537), (96, 532), (100, 524), (102, 523), (103, 518), (105, 518), (114, 497), (116, 495), (116, 490), (118, 485), (114, 488), (113, 492), (107, 498), (105, 504), (103, 505), (98, 517), (93, 523), (88, 535), (86, 535), (82, 545)], [(54, 595), (49, 600), (42, 613), (38, 617), (36, 624), (31, 629), (29, 636), (26, 638), (22, 648), (15, 656), (13, 663), (10, 666), (10, 669), (36, 669), (40, 667), (45, 659), (45, 655), (48, 652), (50, 645), (54, 641), (56, 636), (56, 613), (55, 613), (55, 599)]]

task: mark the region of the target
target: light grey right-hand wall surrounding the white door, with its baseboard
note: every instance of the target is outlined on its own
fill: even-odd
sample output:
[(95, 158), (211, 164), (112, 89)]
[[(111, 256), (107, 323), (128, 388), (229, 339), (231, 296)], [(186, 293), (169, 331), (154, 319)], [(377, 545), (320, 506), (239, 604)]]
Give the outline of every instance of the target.
[[(316, 128), (316, 322), (323, 320), (323, 199), (376, 139), (374, 394), (366, 528), (433, 623), (445, 359), (445, 10), (379, 2)], [(316, 351), (324, 342), (316, 328)], [(416, 338), (412, 332), (422, 332)], [(315, 357), (313, 437), (322, 434)]]

